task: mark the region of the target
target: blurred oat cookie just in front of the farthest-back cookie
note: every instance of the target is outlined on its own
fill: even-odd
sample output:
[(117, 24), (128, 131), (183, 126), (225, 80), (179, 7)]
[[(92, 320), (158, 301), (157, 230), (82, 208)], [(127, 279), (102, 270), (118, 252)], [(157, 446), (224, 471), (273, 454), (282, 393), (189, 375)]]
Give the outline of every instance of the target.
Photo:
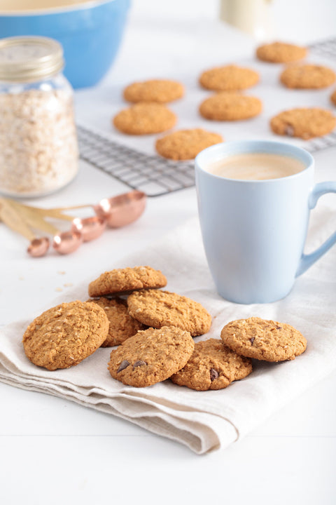
[(289, 65), (280, 75), (287, 88), (320, 89), (331, 86), (336, 80), (335, 72), (321, 65)]

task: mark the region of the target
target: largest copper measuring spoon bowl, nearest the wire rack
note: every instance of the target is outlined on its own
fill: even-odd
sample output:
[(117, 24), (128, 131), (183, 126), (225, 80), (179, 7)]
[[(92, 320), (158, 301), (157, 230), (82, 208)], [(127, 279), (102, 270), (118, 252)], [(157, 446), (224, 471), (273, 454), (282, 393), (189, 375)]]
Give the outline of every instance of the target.
[(138, 219), (146, 207), (146, 194), (134, 189), (128, 193), (104, 198), (93, 206), (97, 216), (105, 217), (111, 228), (123, 227)]

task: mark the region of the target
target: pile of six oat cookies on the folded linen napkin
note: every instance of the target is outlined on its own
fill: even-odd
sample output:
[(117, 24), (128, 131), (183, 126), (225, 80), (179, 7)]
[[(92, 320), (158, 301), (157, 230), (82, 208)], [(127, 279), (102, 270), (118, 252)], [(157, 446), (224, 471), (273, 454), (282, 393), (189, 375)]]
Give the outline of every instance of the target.
[(35, 365), (78, 365), (99, 346), (111, 351), (108, 369), (123, 384), (151, 386), (166, 379), (196, 391), (223, 389), (252, 372), (252, 360), (292, 360), (307, 341), (290, 325), (252, 317), (225, 325), (221, 338), (194, 337), (211, 316), (193, 299), (162, 290), (167, 278), (151, 267), (104, 272), (89, 285), (87, 302), (43, 312), (28, 326), (23, 346)]

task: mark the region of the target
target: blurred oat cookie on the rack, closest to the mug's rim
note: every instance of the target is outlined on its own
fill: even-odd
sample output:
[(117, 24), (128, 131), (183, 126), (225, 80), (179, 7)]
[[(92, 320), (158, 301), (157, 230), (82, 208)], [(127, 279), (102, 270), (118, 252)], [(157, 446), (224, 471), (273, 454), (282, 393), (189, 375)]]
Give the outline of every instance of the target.
[(178, 130), (156, 141), (157, 152), (173, 160), (194, 159), (206, 147), (223, 142), (223, 137), (202, 128)]

